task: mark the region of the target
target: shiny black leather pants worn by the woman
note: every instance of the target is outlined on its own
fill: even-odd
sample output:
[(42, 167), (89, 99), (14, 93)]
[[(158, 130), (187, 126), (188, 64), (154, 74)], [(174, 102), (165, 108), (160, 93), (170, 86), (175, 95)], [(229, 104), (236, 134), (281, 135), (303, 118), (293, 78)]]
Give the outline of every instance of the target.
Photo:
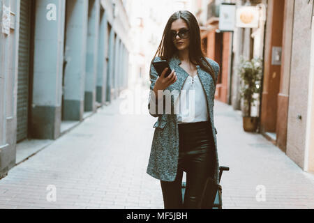
[[(179, 161), (173, 182), (160, 180), (165, 209), (201, 208), (207, 179), (214, 177), (214, 141), (209, 121), (179, 124)], [(186, 172), (186, 192), (181, 184)]]

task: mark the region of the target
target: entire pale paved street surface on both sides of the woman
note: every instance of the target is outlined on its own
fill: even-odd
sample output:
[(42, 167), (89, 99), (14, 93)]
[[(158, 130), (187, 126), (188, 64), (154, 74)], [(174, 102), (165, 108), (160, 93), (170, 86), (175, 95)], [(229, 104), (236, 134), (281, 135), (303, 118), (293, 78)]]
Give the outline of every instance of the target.
[[(159, 181), (146, 174), (156, 118), (119, 114), (121, 101), (10, 169), (0, 208), (163, 208)], [(223, 208), (314, 208), (313, 174), (261, 134), (244, 132), (232, 107), (217, 101), (214, 113), (220, 165), (230, 167), (220, 182)], [(54, 188), (56, 201), (47, 201)], [(256, 199), (259, 188), (265, 201)]]

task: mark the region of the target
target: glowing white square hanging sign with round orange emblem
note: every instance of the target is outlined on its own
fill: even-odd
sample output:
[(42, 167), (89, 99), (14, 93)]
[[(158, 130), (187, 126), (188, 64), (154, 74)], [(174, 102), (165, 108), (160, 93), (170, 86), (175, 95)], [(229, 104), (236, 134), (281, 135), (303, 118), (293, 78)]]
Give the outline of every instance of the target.
[(255, 6), (239, 6), (236, 17), (237, 27), (258, 28), (260, 9)]

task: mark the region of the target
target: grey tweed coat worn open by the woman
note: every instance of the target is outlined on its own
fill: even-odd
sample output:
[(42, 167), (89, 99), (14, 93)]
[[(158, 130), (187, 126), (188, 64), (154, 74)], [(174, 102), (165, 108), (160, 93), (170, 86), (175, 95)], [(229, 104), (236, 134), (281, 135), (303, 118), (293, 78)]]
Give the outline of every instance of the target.
[[(154, 61), (160, 61), (160, 57), (156, 56)], [(217, 80), (218, 73), (219, 73), (219, 65), (215, 61), (208, 59), (211, 66), (214, 68), (215, 77)], [(179, 60), (177, 54), (172, 56), (169, 60), (170, 68), (175, 70), (177, 73), (177, 82), (171, 84), (165, 90), (169, 90), (170, 92), (173, 90), (177, 90), (178, 92), (181, 91), (186, 78), (188, 77), (188, 73), (179, 66), (181, 61)], [(209, 75), (208, 72), (202, 70), (200, 66), (197, 66), (197, 73), (200, 77), (200, 82), (202, 83), (203, 89), (207, 96), (207, 108), (209, 112), (209, 117), (211, 121), (211, 127), (214, 142), (215, 142), (215, 150), (216, 150), (216, 169), (214, 174), (214, 183), (219, 184), (219, 164), (218, 164), (218, 153), (217, 153), (217, 142), (216, 142), (216, 134), (217, 130), (214, 125), (214, 95), (216, 88), (214, 86), (214, 81)], [(150, 86), (150, 94), (154, 89), (154, 85), (156, 83), (156, 79), (158, 78), (158, 73), (156, 69), (151, 64), (150, 68), (150, 79), (151, 79), (151, 86)], [(165, 91), (164, 90), (164, 91)], [(172, 97), (172, 96), (171, 96)], [(164, 99), (165, 103), (165, 99)], [(165, 104), (164, 104), (165, 105)], [(162, 114), (158, 114), (157, 112), (158, 103), (156, 102), (156, 106), (153, 106), (151, 109), (151, 105), (148, 104), (149, 114), (154, 117), (158, 117), (156, 123), (154, 123), (153, 128), (154, 137), (151, 144), (151, 153), (149, 156), (149, 164), (147, 167), (147, 174), (163, 181), (174, 181), (177, 175), (177, 164), (178, 164), (178, 156), (179, 156), (179, 131), (178, 131), (178, 123), (177, 123), (177, 114), (174, 114), (174, 97), (171, 98), (171, 114), (167, 114), (164, 112)], [(156, 110), (155, 110), (155, 109)]]

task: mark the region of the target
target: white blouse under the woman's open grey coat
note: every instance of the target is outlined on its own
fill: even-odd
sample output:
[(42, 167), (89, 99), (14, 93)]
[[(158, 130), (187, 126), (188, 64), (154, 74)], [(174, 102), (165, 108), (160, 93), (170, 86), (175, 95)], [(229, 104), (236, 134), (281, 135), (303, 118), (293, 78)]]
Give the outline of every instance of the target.
[[(154, 103), (151, 98), (153, 97), (150, 94), (149, 102)], [(158, 104), (162, 101), (163, 97), (158, 97)], [(178, 124), (209, 121), (207, 98), (198, 75), (194, 77), (188, 75), (179, 97), (174, 102), (174, 107)]]

